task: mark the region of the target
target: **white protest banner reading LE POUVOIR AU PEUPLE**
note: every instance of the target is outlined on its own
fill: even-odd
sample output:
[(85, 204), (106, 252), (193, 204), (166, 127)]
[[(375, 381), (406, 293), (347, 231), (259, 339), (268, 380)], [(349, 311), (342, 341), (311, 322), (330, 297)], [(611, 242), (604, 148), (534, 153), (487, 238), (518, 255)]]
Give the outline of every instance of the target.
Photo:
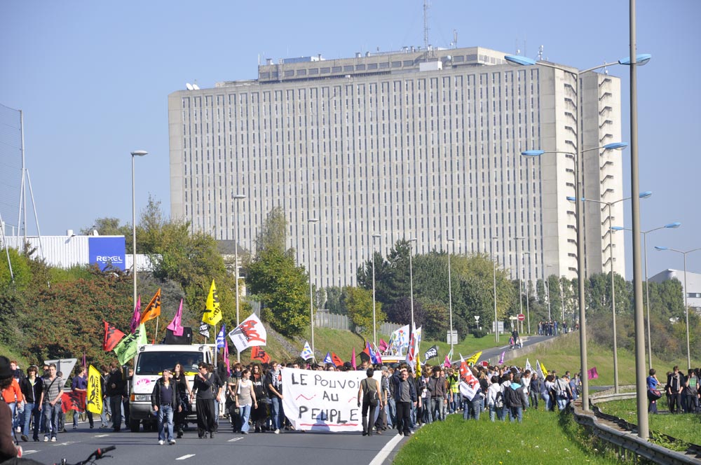
[[(365, 371), (283, 368), (283, 410), (301, 431), (362, 431), (358, 388)], [(381, 380), (376, 370), (374, 379)]]

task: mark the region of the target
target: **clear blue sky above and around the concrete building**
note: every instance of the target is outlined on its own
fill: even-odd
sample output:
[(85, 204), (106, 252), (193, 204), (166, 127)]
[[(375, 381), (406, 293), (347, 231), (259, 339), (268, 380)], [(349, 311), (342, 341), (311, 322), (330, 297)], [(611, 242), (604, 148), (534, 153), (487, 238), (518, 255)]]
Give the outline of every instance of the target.
[[(696, 204), (701, 158), (694, 143), (701, 98), (701, 1), (637, 2), (637, 43), (653, 60), (639, 68), (641, 227), (681, 221), (648, 236), (649, 274), (682, 268), (652, 247), (701, 247)], [(519, 48), (580, 69), (629, 55), (623, 0), (433, 0), (433, 46)], [(170, 210), (170, 92), (197, 80), (255, 78), (259, 57), (349, 57), (423, 46), (423, 2), (398, 1), (36, 1), (0, 2), (0, 103), (25, 112), (27, 167), (43, 235), (114, 216), (131, 221), (130, 151), (137, 160), (137, 209), (148, 195)], [(629, 139), (629, 78), (622, 78), (623, 139)], [(629, 151), (624, 179), (629, 195)], [(629, 226), (629, 207), (626, 224)], [(15, 222), (14, 220), (12, 222)], [(34, 225), (29, 232), (34, 232)], [(619, 233), (620, 234), (620, 233)], [(632, 278), (627, 236), (627, 279)], [(701, 272), (701, 251), (688, 269)]]

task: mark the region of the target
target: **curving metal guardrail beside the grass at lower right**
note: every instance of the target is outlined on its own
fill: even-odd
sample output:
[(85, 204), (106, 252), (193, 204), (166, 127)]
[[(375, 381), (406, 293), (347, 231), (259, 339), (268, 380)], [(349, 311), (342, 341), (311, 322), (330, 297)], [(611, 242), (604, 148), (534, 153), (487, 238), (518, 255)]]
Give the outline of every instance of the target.
[[(580, 403), (575, 403), (573, 408), (575, 421), (578, 424), (590, 427), (594, 435), (601, 438), (601, 440), (605, 440), (608, 443), (622, 447), (623, 449), (653, 461), (656, 464), (701, 464), (701, 446), (690, 444), (686, 452), (677, 452), (675, 450), (669, 450), (667, 447), (662, 447), (661, 445), (651, 443), (648, 440), (643, 440), (637, 436), (637, 425), (629, 423), (624, 419), (620, 419), (613, 415), (608, 415), (601, 412), (601, 410), (599, 410), (599, 408), (595, 405), (597, 402), (629, 399), (635, 397), (636, 393), (634, 392), (621, 394), (608, 394), (604, 392), (599, 395), (591, 396), (591, 402), (594, 404), (592, 408), (593, 415), (584, 412)], [(614, 424), (618, 425), (618, 427), (625, 429), (626, 431), (619, 431), (618, 429), (608, 426), (603, 422), (599, 422), (599, 419), (613, 422)], [(660, 436), (666, 438), (670, 442), (678, 440), (676, 438), (672, 438), (672, 436)]]

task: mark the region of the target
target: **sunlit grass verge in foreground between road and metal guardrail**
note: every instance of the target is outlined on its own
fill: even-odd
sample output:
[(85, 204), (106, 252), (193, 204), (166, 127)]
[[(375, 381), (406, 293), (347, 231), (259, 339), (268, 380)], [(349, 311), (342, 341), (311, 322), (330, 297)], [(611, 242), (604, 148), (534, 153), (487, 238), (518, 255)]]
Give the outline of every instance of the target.
[(461, 414), (449, 415), (416, 431), (402, 447), (394, 464), (616, 464), (599, 450), (583, 442), (582, 432), (571, 415), (529, 409), (522, 424), (465, 421)]

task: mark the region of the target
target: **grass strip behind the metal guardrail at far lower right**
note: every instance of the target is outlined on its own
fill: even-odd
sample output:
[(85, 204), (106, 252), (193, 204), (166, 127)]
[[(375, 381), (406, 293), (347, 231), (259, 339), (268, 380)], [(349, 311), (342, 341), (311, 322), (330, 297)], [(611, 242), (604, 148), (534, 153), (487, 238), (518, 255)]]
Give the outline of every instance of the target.
[[(666, 398), (662, 396), (658, 401), (658, 409), (667, 408)], [(608, 415), (625, 419), (625, 421), (637, 424), (638, 409), (634, 398), (622, 401), (610, 401), (597, 403), (597, 407)], [(701, 444), (701, 415), (685, 413), (681, 415), (649, 415), (650, 440), (653, 443), (674, 450), (686, 450), (686, 443)], [(683, 441), (683, 444), (670, 444), (665, 438), (656, 436), (655, 433), (663, 433)]]

